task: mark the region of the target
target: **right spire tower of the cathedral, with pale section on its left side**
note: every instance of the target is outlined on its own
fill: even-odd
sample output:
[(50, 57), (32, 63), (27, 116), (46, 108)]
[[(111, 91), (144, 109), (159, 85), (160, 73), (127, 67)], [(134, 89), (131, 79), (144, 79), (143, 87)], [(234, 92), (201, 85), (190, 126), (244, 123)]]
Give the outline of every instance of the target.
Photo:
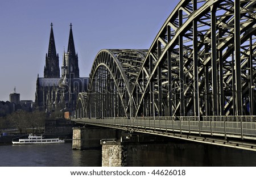
[(73, 39), (72, 24), (70, 24), (68, 52), (65, 53), (64, 51), (61, 69), (63, 78), (79, 78), (79, 64)]

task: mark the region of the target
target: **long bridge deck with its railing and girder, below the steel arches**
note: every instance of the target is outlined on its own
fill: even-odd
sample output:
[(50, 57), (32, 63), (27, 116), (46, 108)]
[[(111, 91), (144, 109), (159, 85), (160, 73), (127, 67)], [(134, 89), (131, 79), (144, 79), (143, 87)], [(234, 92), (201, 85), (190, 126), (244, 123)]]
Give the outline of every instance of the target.
[(72, 119), (79, 124), (98, 125), (134, 132), (163, 135), (213, 145), (256, 151), (256, 122), (176, 121), (125, 118)]

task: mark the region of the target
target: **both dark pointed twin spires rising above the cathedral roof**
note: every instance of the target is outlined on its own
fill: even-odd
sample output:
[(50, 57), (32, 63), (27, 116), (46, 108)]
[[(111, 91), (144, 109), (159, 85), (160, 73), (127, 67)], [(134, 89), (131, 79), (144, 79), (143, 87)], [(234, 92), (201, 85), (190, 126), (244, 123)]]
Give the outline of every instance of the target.
[[(46, 54), (46, 65), (44, 66), (44, 78), (60, 78), (59, 54), (56, 53), (55, 40), (53, 35), (53, 24), (49, 37), (48, 54)], [(63, 54), (62, 77), (79, 78), (78, 57), (75, 51), (72, 24), (70, 24), (68, 52)]]

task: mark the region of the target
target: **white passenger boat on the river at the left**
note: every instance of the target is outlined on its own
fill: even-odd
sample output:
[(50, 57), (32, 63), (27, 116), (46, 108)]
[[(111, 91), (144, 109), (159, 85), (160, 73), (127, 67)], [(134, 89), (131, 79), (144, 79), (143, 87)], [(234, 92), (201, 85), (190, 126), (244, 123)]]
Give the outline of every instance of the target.
[(14, 145), (17, 144), (50, 144), (50, 143), (65, 143), (64, 140), (59, 138), (44, 138), (43, 135), (33, 135), (29, 134), (28, 138), (25, 139), (19, 139), (19, 141), (15, 142), (13, 141)]

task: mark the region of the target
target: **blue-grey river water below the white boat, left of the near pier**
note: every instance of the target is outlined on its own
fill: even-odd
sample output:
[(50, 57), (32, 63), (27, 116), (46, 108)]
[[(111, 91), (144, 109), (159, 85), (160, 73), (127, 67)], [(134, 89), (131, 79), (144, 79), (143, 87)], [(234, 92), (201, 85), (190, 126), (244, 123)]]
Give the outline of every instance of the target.
[(1, 145), (0, 166), (101, 166), (101, 149), (72, 150), (72, 143)]

